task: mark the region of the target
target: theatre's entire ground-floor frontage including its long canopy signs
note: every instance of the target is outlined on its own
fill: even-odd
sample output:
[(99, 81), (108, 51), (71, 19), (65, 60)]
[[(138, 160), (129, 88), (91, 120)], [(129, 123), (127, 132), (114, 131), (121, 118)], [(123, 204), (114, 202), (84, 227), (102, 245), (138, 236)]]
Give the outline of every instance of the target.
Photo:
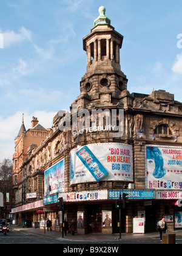
[[(123, 193), (126, 205), (123, 208)], [(59, 212), (59, 197), (64, 203), (64, 218), (76, 222), (76, 232), (119, 233), (120, 209), (116, 201), (121, 195), (121, 232), (133, 233), (133, 223), (142, 218), (144, 232), (156, 232), (161, 216), (166, 217), (169, 231), (182, 229), (182, 192), (159, 190), (92, 190), (69, 193), (56, 193), (41, 201), (21, 205), (12, 209), (18, 216), (18, 224), (28, 227), (45, 228), (47, 218), (53, 229), (60, 231), (62, 212)], [(25, 222), (26, 221), (26, 222)]]

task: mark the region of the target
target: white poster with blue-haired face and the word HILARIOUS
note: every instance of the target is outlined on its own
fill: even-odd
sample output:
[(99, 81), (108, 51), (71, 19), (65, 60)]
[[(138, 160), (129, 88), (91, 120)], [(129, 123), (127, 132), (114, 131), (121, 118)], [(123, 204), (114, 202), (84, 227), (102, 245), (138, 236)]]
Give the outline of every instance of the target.
[(182, 147), (146, 145), (146, 188), (182, 189)]

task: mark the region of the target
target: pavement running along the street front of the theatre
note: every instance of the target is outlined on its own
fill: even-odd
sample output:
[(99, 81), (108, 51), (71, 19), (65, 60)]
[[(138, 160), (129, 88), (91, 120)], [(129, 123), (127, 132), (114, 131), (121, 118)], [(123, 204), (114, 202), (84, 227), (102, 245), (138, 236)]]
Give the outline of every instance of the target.
[[(78, 233), (75, 233), (75, 235), (72, 235), (71, 233), (67, 233), (67, 235), (62, 238), (62, 232), (59, 231), (55, 231), (52, 230), (52, 232), (47, 232), (47, 228), (44, 229), (35, 229), (33, 227), (27, 228), (27, 227), (22, 227), (22, 226), (18, 226), (15, 224), (12, 224), (10, 227), (10, 230), (16, 230), (16, 231), (21, 231), (21, 232), (26, 232), (26, 233), (32, 233), (34, 235), (41, 235), (41, 236), (47, 236), (49, 238), (55, 238), (55, 239), (59, 239), (59, 240), (64, 240), (66, 241), (84, 241), (84, 242), (102, 242), (104, 241), (104, 243), (106, 243), (106, 241), (108, 241), (108, 243), (112, 242), (112, 241), (120, 241), (120, 234), (116, 233), (116, 234), (110, 234), (110, 235), (106, 235), (106, 234), (102, 234), (102, 233), (89, 233), (89, 234), (85, 234), (85, 235), (79, 235)], [(172, 231), (172, 232), (167, 232), (170, 234), (174, 234), (177, 236), (182, 236), (182, 230), (177, 230), (177, 231)], [(121, 240), (133, 240), (133, 239), (152, 239), (152, 238), (159, 238), (159, 232), (152, 232), (152, 233), (121, 233)]]

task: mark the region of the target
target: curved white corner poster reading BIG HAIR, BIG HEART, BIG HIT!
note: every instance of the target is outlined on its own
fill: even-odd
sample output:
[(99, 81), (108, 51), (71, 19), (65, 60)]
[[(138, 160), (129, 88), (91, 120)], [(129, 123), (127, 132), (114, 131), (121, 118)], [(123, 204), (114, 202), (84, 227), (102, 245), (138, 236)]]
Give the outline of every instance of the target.
[(70, 152), (70, 184), (101, 180), (133, 181), (132, 146), (88, 144)]

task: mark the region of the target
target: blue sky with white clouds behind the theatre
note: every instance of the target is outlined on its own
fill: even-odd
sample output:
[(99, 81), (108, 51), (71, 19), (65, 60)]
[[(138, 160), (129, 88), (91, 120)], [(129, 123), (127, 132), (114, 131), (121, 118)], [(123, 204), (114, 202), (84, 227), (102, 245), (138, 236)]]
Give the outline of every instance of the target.
[(45, 128), (70, 109), (86, 73), (83, 38), (101, 5), (123, 35), (121, 71), (130, 93), (166, 90), (182, 102), (181, 0), (1, 0), (0, 161), (12, 159), (24, 113)]

